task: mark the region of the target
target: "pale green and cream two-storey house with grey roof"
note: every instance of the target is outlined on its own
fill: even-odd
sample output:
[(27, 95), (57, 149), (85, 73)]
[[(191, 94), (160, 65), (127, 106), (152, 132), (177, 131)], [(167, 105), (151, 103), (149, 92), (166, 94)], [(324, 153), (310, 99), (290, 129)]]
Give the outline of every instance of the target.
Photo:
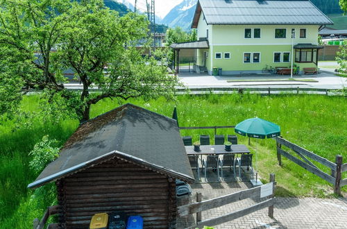
[[(223, 74), (261, 73), (266, 65), (316, 67), (318, 33), (332, 21), (310, 1), (198, 0), (192, 22), (198, 42), (174, 44), (196, 49), (198, 69)], [(292, 37), (293, 34), (293, 37)]]

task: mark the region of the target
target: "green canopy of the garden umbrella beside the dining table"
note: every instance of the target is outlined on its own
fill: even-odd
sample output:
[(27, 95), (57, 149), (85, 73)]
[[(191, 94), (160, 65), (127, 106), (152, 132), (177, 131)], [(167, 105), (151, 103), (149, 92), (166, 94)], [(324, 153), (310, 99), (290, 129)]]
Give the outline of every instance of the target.
[(271, 138), (280, 135), (280, 126), (260, 118), (246, 119), (235, 126), (235, 133), (254, 138)]

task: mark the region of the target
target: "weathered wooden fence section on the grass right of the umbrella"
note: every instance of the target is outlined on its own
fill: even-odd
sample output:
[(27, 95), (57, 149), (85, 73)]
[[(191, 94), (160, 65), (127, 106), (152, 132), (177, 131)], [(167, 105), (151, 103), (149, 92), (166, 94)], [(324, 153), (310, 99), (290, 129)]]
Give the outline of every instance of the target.
[[(314, 173), (316, 176), (319, 176), (323, 180), (328, 181), (328, 183), (334, 185), (334, 193), (341, 195), (341, 187), (344, 185), (347, 185), (347, 178), (342, 180), (341, 173), (344, 171), (347, 171), (347, 163), (342, 164), (342, 156), (337, 155), (335, 163), (330, 162), (329, 160), (322, 158), (319, 155), (316, 155), (315, 153), (312, 153), (311, 151), (307, 151), (307, 149), (303, 149), (301, 146), (298, 146), (294, 143), (291, 143), (287, 141), (286, 139), (282, 137), (276, 137), (276, 143), (277, 143), (277, 158), (278, 158), (278, 164), (282, 165), (282, 159), (281, 155), (285, 156), (292, 162), (300, 165), (307, 171), (310, 171), (311, 173)], [(295, 157), (294, 155), (291, 155), (287, 151), (284, 151), (282, 149), (283, 146), (287, 146), (287, 148), (294, 151), (302, 160)], [(331, 173), (325, 173), (321, 171), (318, 167), (316, 167), (315, 164), (313, 164), (310, 160), (307, 158), (310, 158), (316, 162), (319, 162), (320, 164), (323, 164), (325, 167), (329, 167), (331, 170)]]

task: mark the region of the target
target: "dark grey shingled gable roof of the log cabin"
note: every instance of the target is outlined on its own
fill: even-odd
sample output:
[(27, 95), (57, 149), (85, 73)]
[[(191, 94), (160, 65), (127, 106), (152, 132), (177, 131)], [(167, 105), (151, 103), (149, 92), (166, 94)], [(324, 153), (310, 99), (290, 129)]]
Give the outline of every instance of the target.
[(110, 158), (194, 180), (176, 120), (128, 103), (82, 124), (67, 140), (59, 158), (28, 187), (58, 180)]

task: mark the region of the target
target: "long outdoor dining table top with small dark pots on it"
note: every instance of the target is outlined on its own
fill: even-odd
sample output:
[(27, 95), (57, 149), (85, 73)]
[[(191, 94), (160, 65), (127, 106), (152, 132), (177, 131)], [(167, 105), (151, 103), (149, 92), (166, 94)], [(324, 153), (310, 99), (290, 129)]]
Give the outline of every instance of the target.
[(200, 151), (194, 151), (194, 146), (185, 146), (187, 155), (223, 155), (228, 153), (251, 153), (247, 146), (242, 144), (231, 145), (231, 151), (226, 151), (224, 145), (200, 146)]

